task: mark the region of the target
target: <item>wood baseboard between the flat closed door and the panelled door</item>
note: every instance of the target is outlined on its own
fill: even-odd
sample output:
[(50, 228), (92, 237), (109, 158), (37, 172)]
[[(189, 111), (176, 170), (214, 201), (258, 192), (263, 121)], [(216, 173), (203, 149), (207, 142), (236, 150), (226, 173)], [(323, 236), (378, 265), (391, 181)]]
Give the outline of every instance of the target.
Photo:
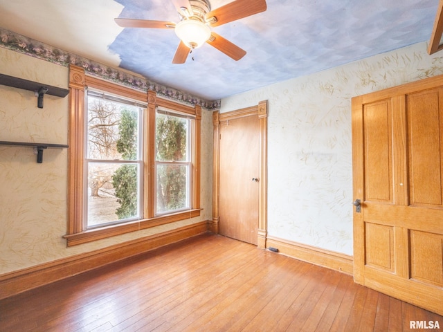
[(266, 238), (266, 248), (269, 247), (277, 248), (278, 252), (283, 255), (300, 259), (300, 261), (306, 261), (307, 263), (331, 268), (347, 275), (353, 275), (354, 259), (352, 256), (277, 237)]

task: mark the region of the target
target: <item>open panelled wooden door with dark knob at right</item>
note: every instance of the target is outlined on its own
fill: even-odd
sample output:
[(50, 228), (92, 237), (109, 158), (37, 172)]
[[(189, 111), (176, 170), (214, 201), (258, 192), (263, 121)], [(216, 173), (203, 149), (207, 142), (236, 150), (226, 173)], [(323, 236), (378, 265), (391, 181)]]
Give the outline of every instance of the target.
[(443, 78), (352, 99), (354, 280), (443, 315)]

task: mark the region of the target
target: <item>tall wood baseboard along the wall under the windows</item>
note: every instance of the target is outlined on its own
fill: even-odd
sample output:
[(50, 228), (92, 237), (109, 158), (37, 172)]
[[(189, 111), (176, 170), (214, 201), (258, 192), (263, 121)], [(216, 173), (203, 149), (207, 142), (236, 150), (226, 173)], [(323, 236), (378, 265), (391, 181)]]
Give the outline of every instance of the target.
[(0, 275), (0, 299), (51, 284), (73, 275), (93, 270), (208, 231), (208, 221), (201, 221), (150, 237), (127, 241), (92, 252), (57, 259), (46, 264)]

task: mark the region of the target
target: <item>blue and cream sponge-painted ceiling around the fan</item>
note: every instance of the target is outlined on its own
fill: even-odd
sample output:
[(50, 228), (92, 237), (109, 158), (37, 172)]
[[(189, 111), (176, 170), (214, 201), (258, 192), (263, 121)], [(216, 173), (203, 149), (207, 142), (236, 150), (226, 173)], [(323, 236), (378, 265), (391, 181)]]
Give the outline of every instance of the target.
[[(212, 9), (231, 0), (212, 0)], [(205, 44), (172, 64), (174, 30), (120, 28), (114, 17), (179, 21), (168, 0), (0, 0), (0, 28), (119, 66), (206, 100), (322, 71), (431, 37), (437, 0), (266, 0), (266, 12), (213, 28), (247, 51)]]

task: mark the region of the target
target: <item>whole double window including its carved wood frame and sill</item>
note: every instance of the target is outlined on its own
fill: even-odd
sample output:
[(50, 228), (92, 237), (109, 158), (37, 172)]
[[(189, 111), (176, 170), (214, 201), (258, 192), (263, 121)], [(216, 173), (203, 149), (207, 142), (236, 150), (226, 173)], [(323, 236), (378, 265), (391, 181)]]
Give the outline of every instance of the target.
[(69, 77), (68, 246), (199, 216), (201, 108)]

